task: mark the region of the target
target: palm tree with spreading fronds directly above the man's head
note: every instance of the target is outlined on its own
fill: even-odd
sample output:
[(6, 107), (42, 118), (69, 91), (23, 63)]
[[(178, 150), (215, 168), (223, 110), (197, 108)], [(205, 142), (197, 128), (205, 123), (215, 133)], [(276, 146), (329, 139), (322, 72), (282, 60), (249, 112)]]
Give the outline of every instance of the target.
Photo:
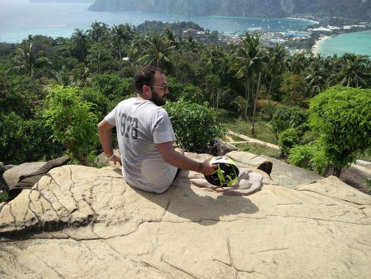
[(173, 63), (170, 60), (170, 55), (174, 52), (175, 46), (171, 46), (162, 33), (154, 34), (150, 39), (145, 39), (145, 41), (148, 47), (137, 62), (160, 67), (171, 73), (173, 71)]

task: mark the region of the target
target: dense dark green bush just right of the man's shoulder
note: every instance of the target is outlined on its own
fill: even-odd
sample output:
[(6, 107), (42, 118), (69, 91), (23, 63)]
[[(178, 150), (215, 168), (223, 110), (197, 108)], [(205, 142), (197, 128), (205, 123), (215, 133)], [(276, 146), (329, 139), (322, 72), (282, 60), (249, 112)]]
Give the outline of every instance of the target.
[(165, 107), (173, 124), (178, 145), (189, 152), (201, 152), (201, 147), (215, 137), (226, 134), (217, 122), (216, 113), (207, 104), (198, 105), (180, 99), (168, 102)]

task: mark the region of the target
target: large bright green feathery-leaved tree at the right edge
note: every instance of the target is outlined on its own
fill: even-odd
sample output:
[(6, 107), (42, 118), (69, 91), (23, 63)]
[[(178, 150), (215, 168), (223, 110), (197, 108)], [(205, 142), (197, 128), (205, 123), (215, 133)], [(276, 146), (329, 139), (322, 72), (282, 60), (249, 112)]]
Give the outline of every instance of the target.
[(311, 99), (309, 125), (323, 141), (328, 162), (340, 171), (371, 146), (371, 90), (334, 86)]

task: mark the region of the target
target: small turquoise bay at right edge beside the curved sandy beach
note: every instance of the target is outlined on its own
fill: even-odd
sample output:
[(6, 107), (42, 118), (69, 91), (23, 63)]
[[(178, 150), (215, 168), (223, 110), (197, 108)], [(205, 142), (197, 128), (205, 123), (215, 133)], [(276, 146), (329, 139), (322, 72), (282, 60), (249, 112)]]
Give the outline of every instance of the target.
[(328, 38), (319, 44), (317, 53), (341, 56), (346, 52), (371, 56), (371, 31), (354, 32)]

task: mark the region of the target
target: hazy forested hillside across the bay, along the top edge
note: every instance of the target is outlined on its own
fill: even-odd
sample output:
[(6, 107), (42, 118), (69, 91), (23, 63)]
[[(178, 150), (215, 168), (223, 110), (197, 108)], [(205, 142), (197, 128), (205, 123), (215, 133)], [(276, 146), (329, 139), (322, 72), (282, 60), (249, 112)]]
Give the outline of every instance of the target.
[(371, 18), (370, 0), (95, 0), (90, 10), (169, 12), (190, 16), (284, 17), (295, 13)]

